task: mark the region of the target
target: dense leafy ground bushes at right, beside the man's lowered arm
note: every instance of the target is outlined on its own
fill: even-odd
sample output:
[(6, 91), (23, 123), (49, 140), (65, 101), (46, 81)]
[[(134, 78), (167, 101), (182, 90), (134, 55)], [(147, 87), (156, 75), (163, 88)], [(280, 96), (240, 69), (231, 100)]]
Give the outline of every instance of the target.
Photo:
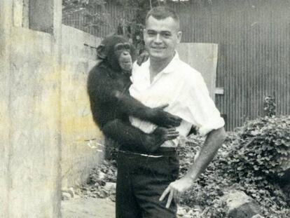
[[(188, 153), (186, 147), (181, 147), (181, 157)], [(196, 149), (191, 151), (196, 153)], [(181, 203), (190, 207), (200, 205), (205, 217), (225, 217), (225, 205), (220, 198), (231, 187), (254, 198), (265, 217), (289, 217), (289, 205), (278, 184), (279, 177), (290, 168), (289, 160), (290, 117), (249, 121), (229, 133), (219, 154)], [(182, 165), (188, 168), (188, 160), (181, 159), (184, 174)]]

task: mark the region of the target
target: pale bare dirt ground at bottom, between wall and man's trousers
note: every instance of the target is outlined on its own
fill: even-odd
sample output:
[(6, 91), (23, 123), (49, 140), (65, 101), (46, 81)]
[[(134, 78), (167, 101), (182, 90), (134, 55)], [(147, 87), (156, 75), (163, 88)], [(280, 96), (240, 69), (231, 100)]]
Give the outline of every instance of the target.
[(63, 200), (62, 218), (115, 218), (115, 203), (109, 198)]

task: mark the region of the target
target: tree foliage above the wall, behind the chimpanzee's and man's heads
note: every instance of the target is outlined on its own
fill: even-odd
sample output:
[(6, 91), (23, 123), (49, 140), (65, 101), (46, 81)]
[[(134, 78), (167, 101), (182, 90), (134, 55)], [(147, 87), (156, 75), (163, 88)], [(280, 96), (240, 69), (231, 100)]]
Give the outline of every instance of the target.
[[(144, 50), (143, 29), (147, 12), (154, 6), (165, 5), (167, 1), (160, 0), (63, 0), (62, 16), (64, 20), (72, 20), (75, 14), (84, 27), (100, 29), (108, 26), (111, 32), (116, 32), (129, 39), (137, 48), (137, 52)], [(106, 5), (115, 5), (123, 11), (120, 18), (112, 17)], [(113, 20), (118, 20), (115, 27)], [(78, 22), (79, 20), (74, 20)]]

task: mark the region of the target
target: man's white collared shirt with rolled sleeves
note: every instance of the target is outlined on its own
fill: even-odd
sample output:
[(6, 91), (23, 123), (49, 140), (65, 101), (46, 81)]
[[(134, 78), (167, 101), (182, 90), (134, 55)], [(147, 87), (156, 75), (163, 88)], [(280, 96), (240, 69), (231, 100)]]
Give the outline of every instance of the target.
[[(223, 127), (225, 124), (219, 110), (209, 97), (209, 92), (200, 72), (179, 59), (177, 52), (172, 61), (150, 81), (150, 60), (141, 66), (136, 62), (132, 70), (130, 95), (148, 107), (169, 104), (165, 111), (182, 118), (177, 127), (179, 135), (186, 137), (191, 125), (200, 135)], [(149, 133), (156, 125), (139, 118), (130, 117), (132, 125)], [(165, 142), (162, 147), (176, 147), (178, 139)]]

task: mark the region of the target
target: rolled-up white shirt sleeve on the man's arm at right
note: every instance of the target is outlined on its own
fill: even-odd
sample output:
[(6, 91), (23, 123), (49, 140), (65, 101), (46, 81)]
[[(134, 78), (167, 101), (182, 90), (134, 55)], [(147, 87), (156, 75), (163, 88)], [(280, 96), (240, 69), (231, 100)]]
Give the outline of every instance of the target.
[(209, 97), (209, 91), (199, 72), (195, 72), (193, 78), (186, 84), (186, 93), (187, 95), (181, 98), (181, 101), (186, 102), (186, 119), (198, 128), (200, 135), (207, 135), (210, 131), (225, 125), (214, 101)]

